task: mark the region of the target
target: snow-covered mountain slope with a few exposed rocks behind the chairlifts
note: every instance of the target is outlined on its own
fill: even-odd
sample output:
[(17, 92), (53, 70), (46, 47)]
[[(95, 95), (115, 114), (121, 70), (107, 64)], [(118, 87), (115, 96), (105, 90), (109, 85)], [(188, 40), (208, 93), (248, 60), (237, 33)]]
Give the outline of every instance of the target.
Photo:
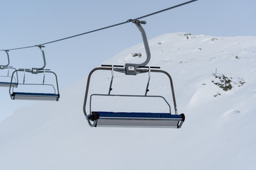
[[(256, 169), (256, 37), (169, 33), (149, 46), (148, 65), (160, 66), (174, 80), (178, 113), (186, 115), (181, 129), (90, 128), (82, 112), (85, 73), (61, 91), (60, 101), (21, 108), (1, 122), (0, 169)], [(132, 57), (135, 52), (142, 57)], [(141, 43), (104, 63), (144, 60)], [(213, 84), (216, 69), (232, 77), (233, 89)], [(101, 81), (99, 75), (94, 89), (110, 78)], [(133, 84), (141, 79), (119, 78), (113, 86), (120, 91), (140, 90)], [(240, 80), (245, 84), (238, 86)], [(170, 95), (165, 84), (161, 77), (151, 79), (156, 94)]]

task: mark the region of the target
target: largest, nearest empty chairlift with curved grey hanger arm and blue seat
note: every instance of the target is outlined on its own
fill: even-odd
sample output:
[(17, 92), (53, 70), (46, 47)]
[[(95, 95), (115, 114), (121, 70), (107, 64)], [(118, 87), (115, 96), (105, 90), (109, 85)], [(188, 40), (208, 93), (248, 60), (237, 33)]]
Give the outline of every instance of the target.
[[(161, 70), (160, 67), (147, 67), (146, 64), (149, 63), (151, 54), (149, 51), (149, 44), (146, 39), (146, 33), (141, 24), (145, 24), (145, 21), (134, 20), (132, 23), (135, 23), (137, 28), (139, 28), (142, 33), (142, 39), (144, 42), (144, 47), (146, 50), (146, 61), (142, 64), (133, 64), (127, 63), (124, 66), (120, 65), (102, 65), (92, 69), (89, 76), (87, 77), (87, 86), (85, 89), (85, 100), (83, 104), (83, 112), (87, 122), (91, 127), (138, 127), (138, 128), (181, 128), (185, 115), (182, 113), (178, 115), (176, 108), (176, 99), (174, 95), (174, 84), (169, 73)], [(110, 87), (107, 94), (91, 94), (88, 96), (90, 91), (90, 80), (94, 72), (99, 70), (111, 72), (112, 77), (110, 79)], [(121, 72), (126, 75), (136, 76), (137, 74), (148, 74), (148, 80), (146, 84), (146, 89), (144, 95), (134, 95), (134, 94), (111, 94), (112, 92), (112, 83), (114, 79), (114, 72)], [(150, 96), (148, 95), (149, 83), (151, 78), (151, 73), (164, 74), (169, 78), (169, 83), (171, 87), (172, 103), (174, 103), (174, 114), (171, 114), (171, 106), (166, 101), (164, 96)], [(162, 98), (166, 103), (166, 106), (169, 107), (168, 113), (135, 113), (135, 112), (113, 112), (113, 111), (97, 111), (95, 108), (92, 108), (92, 98), (93, 96), (108, 96), (108, 97), (125, 97), (125, 98)], [(89, 108), (89, 111), (87, 111)]]

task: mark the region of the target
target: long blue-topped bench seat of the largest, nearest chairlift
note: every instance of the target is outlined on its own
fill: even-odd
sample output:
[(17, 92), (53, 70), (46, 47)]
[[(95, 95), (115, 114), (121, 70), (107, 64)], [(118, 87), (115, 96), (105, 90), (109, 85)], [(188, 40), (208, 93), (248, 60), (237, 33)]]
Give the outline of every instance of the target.
[(181, 128), (185, 115), (170, 113), (92, 112), (88, 118), (95, 127)]

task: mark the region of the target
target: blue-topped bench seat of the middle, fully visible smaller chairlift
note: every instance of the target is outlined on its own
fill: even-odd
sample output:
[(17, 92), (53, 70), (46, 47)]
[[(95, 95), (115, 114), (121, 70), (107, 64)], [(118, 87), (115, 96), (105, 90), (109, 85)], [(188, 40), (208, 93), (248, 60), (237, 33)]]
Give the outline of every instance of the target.
[(43, 93), (24, 93), (14, 92), (11, 94), (13, 99), (26, 99), (26, 100), (43, 100), (43, 101), (58, 101), (59, 94), (43, 94)]

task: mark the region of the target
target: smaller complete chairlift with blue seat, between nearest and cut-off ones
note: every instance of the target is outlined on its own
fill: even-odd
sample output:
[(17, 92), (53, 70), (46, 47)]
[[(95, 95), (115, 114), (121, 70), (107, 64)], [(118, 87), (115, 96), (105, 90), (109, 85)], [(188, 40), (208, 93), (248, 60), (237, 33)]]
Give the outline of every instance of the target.
[[(15, 100), (15, 99), (21, 99), (21, 100), (44, 100), (44, 101), (58, 101), (60, 98), (60, 94), (59, 94), (59, 89), (58, 89), (58, 79), (57, 79), (57, 75), (55, 74), (55, 72), (50, 71), (50, 69), (44, 69), (46, 67), (46, 57), (45, 57), (45, 53), (43, 51), (43, 47), (42, 45), (38, 45), (38, 47), (40, 48), (42, 55), (43, 55), (43, 67), (41, 68), (32, 68), (32, 69), (16, 69), (16, 71), (13, 72), (12, 76), (11, 76), (11, 83), (14, 79), (14, 74), (17, 75), (22, 75), (23, 74), (23, 82), (19, 82), (17, 81), (18, 87), (19, 86), (49, 86), (50, 89), (52, 89), (50, 92), (45, 93), (42, 91), (36, 91), (36, 92), (31, 92), (31, 91), (18, 91), (20, 90), (20, 88), (16, 88), (14, 90), (13, 87), (10, 86), (9, 88), (9, 93), (11, 96), (11, 99)], [(20, 74), (18, 74), (18, 72), (20, 72)], [(43, 74), (43, 80), (41, 81), (41, 83), (26, 83), (26, 73), (28, 74), (33, 74), (33, 75), (38, 75), (38, 74)], [(55, 77), (55, 84), (46, 84), (45, 83), (45, 79), (46, 79), (46, 75), (48, 74), (53, 74), (53, 77)]]

